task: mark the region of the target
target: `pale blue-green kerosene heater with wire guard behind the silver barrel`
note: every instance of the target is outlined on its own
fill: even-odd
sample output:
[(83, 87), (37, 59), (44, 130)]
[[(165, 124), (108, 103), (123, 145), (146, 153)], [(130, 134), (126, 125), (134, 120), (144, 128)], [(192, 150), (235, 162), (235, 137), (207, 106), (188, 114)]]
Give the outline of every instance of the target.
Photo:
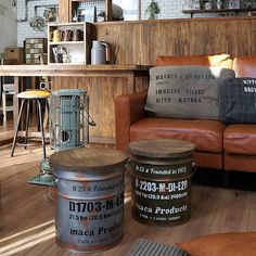
[[(50, 145), (55, 152), (86, 146), (89, 142), (89, 98), (86, 90), (62, 89), (50, 97)], [(53, 185), (54, 177), (48, 158), (41, 161), (39, 176), (29, 183)]]

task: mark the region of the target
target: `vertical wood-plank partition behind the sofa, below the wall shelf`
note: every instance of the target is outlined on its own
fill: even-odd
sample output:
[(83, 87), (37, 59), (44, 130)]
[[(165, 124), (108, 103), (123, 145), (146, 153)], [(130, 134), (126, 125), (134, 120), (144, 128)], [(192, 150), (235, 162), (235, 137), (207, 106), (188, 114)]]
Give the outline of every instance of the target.
[(155, 65), (158, 55), (256, 54), (256, 16), (194, 17), (93, 23), (97, 40), (111, 44), (121, 65)]

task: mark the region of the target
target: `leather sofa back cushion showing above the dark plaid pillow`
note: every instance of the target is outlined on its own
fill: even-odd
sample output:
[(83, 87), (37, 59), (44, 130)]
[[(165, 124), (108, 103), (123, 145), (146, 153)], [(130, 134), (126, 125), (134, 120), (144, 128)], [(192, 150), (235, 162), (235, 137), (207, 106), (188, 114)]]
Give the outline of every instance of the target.
[(256, 55), (234, 57), (233, 69), (236, 77), (256, 78)]

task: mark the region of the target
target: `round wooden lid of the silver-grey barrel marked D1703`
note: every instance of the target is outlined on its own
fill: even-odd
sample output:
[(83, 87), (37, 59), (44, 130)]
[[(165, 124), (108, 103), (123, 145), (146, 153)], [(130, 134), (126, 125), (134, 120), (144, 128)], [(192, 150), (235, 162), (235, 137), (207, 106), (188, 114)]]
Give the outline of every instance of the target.
[(126, 162), (127, 156), (123, 152), (104, 148), (61, 151), (52, 154), (49, 159), (53, 174), (60, 177), (63, 172), (65, 178), (76, 177), (76, 174), (104, 174), (116, 168), (124, 169)]

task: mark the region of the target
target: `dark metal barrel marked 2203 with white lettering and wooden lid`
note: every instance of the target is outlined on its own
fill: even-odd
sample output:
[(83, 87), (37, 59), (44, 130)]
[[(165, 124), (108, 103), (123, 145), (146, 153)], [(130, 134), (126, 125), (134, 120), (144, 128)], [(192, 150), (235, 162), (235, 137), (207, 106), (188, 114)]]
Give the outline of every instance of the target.
[(194, 149), (192, 143), (175, 139), (129, 143), (131, 210), (136, 220), (176, 226), (190, 219)]

